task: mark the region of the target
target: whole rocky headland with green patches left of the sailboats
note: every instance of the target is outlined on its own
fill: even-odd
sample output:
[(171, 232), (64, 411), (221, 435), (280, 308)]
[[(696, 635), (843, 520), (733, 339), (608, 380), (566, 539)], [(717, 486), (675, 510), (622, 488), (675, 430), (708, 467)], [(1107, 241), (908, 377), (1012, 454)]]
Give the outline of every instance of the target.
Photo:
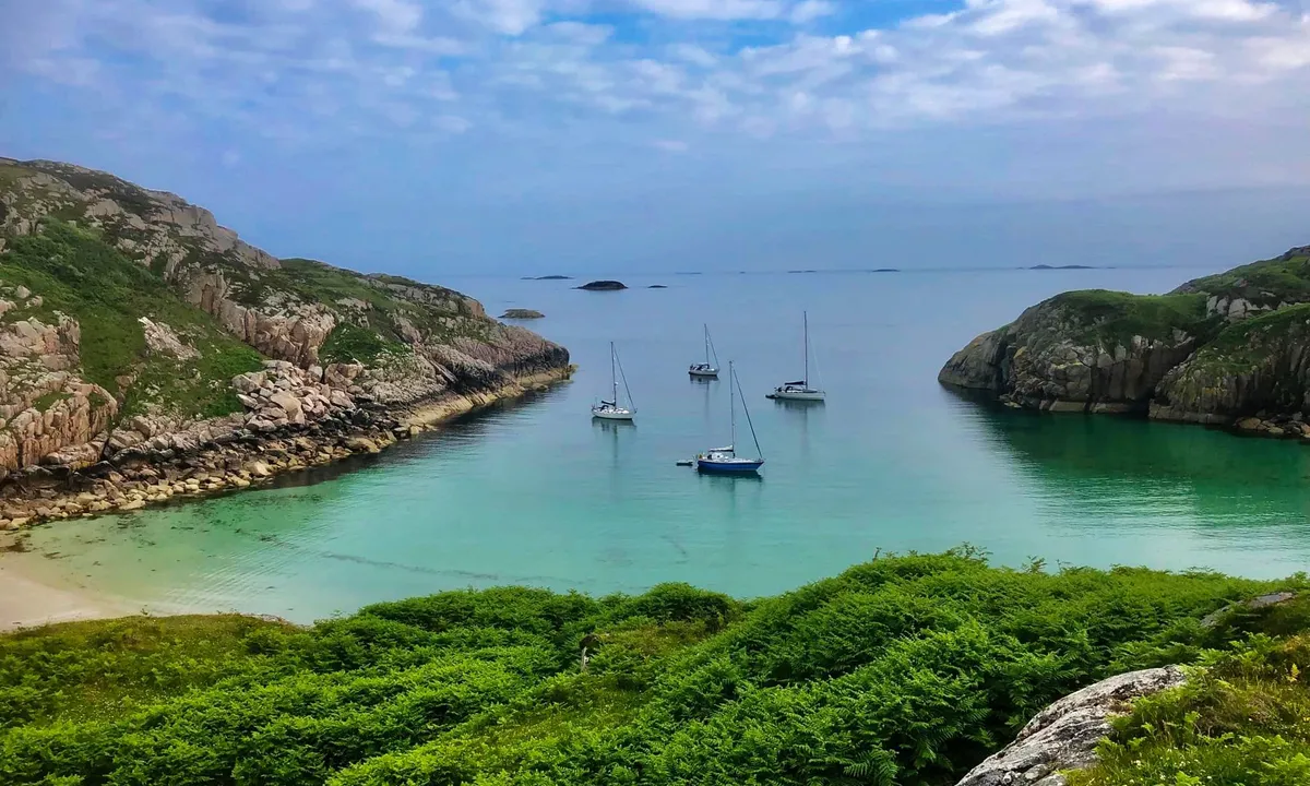
[(0, 159), (0, 528), (377, 452), (570, 371), (453, 290), (278, 259), (173, 194)]

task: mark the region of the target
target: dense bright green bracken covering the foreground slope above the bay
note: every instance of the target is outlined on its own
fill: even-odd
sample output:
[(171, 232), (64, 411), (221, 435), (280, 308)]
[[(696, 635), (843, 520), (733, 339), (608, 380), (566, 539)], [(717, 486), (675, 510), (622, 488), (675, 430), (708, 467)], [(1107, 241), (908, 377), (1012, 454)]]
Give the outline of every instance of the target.
[(1305, 583), (952, 553), (751, 603), (511, 588), (308, 630), (72, 624), (0, 638), (0, 782), (950, 783), (1053, 698), (1241, 633), (1204, 613)]

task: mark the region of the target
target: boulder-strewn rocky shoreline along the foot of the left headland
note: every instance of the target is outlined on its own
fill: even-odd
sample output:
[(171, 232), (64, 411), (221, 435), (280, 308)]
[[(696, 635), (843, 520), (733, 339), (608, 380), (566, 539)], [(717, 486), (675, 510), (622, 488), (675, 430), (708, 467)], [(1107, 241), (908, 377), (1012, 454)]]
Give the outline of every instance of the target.
[[(107, 460), (83, 469), (45, 464), (9, 473), (0, 482), (0, 529), (254, 487), (282, 474), (379, 453), (451, 418), (566, 381), (574, 371), (561, 367), (511, 377), (496, 388), (384, 407), (316, 383), (321, 369), (280, 360), (265, 367), (234, 380), (237, 389), (246, 390), (241, 396), (250, 411), (244, 415), (215, 418), (185, 431), (165, 428), (156, 436), (149, 436), (152, 423), (136, 418), (131, 430), (109, 436), (119, 448)], [(339, 368), (321, 373), (329, 377), (329, 372), (337, 373), (338, 383), (345, 379)]]

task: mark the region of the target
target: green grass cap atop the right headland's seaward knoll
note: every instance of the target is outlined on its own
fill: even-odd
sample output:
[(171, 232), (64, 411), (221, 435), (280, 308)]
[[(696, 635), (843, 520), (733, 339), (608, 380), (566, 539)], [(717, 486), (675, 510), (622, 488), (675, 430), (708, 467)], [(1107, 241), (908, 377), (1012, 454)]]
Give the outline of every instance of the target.
[(1207, 338), (1217, 328), (1205, 314), (1205, 296), (1131, 295), (1108, 290), (1065, 292), (1051, 299), (1082, 322), (1082, 337), (1127, 345), (1132, 337), (1174, 339), (1174, 330)]

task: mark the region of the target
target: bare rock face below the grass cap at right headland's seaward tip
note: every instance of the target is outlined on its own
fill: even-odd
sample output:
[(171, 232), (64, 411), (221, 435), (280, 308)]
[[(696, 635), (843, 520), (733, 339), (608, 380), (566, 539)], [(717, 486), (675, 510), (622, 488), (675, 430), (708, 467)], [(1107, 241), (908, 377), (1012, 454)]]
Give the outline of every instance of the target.
[(1145, 411), (1165, 375), (1196, 348), (1196, 337), (1110, 337), (1057, 299), (975, 338), (938, 380), (1055, 411)]

